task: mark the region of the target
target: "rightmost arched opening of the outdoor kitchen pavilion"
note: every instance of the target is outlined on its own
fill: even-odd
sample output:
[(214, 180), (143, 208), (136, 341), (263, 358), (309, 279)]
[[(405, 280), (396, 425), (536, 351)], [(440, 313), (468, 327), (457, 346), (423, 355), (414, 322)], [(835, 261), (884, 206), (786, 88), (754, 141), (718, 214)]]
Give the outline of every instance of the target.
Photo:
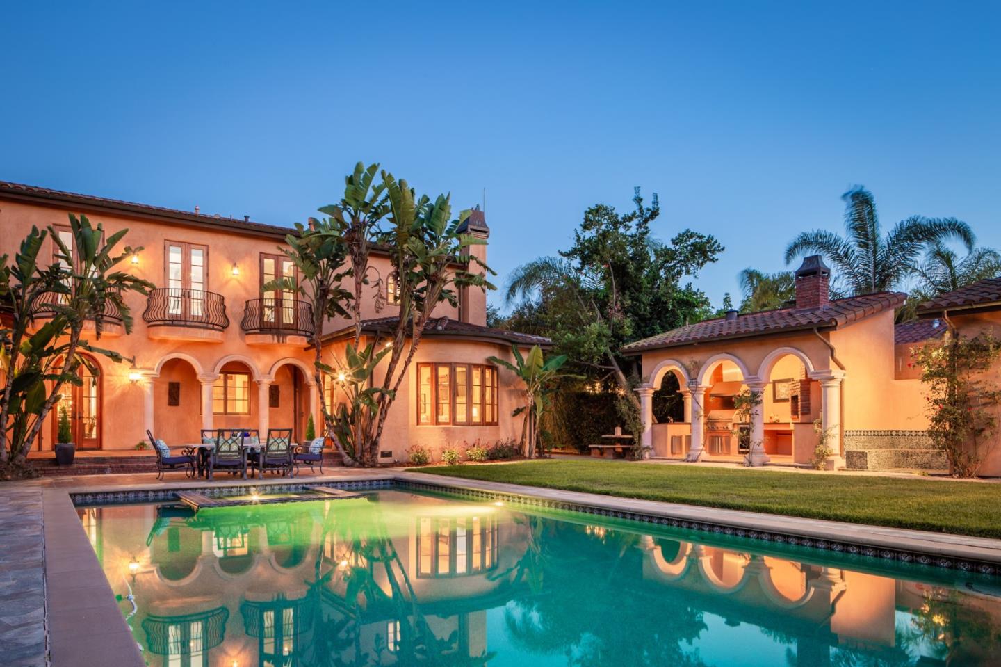
[(820, 417), (820, 385), (810, 380), (808, 358), (798, 352), (777, 353), (762, 365), (760, 376), (766, 383), (762, 396), (765, 454), (773, 461), (805, 463), (817, 441), (813, 423)]

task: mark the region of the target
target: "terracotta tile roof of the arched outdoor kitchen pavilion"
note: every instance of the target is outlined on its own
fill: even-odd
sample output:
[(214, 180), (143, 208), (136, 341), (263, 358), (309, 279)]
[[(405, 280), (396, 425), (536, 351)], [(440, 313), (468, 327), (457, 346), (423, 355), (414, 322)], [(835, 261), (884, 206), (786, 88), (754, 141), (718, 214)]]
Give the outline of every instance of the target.
[(880, 291), (839, 298), (818, 308), (786, 307), (741, 314), (731, 320), (726, 317), (707, 319), (631, 343), (623, 348), (623, 352), (636, 354), (658, 348), (768, 336), (814, 326), (844, 326), (876, 312), (895, 308), (903, 303), (906, 297), (906, 294), (898, 291)]

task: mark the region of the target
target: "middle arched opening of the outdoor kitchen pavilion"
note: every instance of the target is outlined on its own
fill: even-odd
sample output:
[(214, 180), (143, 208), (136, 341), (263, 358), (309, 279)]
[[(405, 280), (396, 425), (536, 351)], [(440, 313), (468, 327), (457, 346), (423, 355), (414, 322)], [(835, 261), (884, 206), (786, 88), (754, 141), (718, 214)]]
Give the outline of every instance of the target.
[(701, 384), (708, 389), (693, 397), (693, 411), (703, 416), (703, 447), (709, 458), (734, 459), (750, 451), (751, 415), (739, 398), (748, 389), (742, 367), (739, 360), (728, 356), (703, 369)]

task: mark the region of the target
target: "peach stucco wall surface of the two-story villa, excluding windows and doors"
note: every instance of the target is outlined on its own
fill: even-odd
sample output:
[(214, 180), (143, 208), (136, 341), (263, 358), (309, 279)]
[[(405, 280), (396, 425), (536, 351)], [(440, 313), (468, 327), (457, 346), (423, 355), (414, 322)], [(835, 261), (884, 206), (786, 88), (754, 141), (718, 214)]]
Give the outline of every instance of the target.
[[(0, 229), (4, 231), (0, 234), (0, 254), (7, 253), (12, 256), (32, 225), (44, 228), (53, 224), (67, 224), (69, 212), (71, 211), (68, 209), (55, 206), (0, 198)], [(134, 318), (132, 333), (123, 335), (117, 330), (109, 330), (101, 338), (99, 346), (119, 352), (128, 359), (134, 359), (135, 369), (130, 368), (129, 363), (115, 364), (104, 358), (98, 359), (103, 388), (101, 449), (132, 449), (136, 443), (145, 439), (147, 426), (151, 426), (157, 437), (165, 439), (172, 446), (196, 441), (198, 431), (203, 425), (202, 388), (199, 378), (211, 380), (226, 365), (229, 365), (227, 368), (245, 370), (250, 374), (251, 414), (216, 415), (213, 417), (215, 428), (258, 428), (261, 408), (258, 405), (260, 396), (256, 381), (265, 381), (273, 382), (279, 388), (280, 407), (267, 409), (270, 428), (290, 428), (295, 425), (301, 439), (306, 413), (312, 412), (316, 416), (317, 432), (321, 432), (318, 402), (309, 405), (308, 384), (311, 383), (312, 352), (306, 350), (301, 341), (266, 340), (264, 343), (248, 344), (246, 335), (240, 327), (244, 303), (247, 299), (260, 296), (260, 254), (277, 253), (280, 238), (256, 232), (205, 228), (183, 220), (132, 217), (97, 209), (74, 208), (72, 212), (85, 213), (94, 224), (103, 223), (107, 233), (127, 228), (128, 234), (119, 247), (123, 248), (128, 244), (142, 246), (144, 249), (139, 253), (137, 264), (126, 262), (122, 268), (150, 280), (157, 286), (163, 286), (166, 282), (164, 275), (166, 241), (199, 243), (207, 246), (205, 289), (224, 296), (229, 318), (229, 325), (222, 333), (206, 335), (206, 329), (171, 327), (179, 329), (179, 333), (186, 340), (164, 340), (162, 338), (164, 327), (149, 327), (143, 321), (142, 313), (146, 307), (146, 298), (140, 294), (127, 296), (127, 303)], [(485, 258), (486, 248), (477, 246), (475, 252)], [(51, 256), (52, 241), (49, 239), (46, 241), (43, 257), (47, 260)], [(233, 274), (234, 264), (238, 269), (237, 275)], [(389, 266), (388, 259), (373, 255), (371, 265), (371, 275), (378, 273), (384, 280)], [(371, 281), (374, 283), (374, 279)], [(369, 285), (367, 289), (371, 293), (362, 302), (364, 317), (396, 314), (397, 306), (392, 304), (387, 304), (380, 311), (376, 310), (374, 284)], [(467, 321), (482, 324), (485, 323), (485, 300), (478, 292), (478, 289), (468, 291), (466, 294), (468, 302), (462, 314)], [(435, 315), (447, 315), (452, 318), (456, 318), (458, 314), (459, 309), (447, 303), (439, 305), (435, 310)], [(329, 323), (327, 328), (339, 328), (346, 324), (346, 320), (334, 321)], [(506, 348), (499, 344), (456, 343), (427, 339), (422, 343), (415, 362), (434, 359), (482, 363), (489, 355), (505, 356), (505, 354)], [(507, 350), (507, 354), (510, 355), (510, 350)], [(291, 367), (298, 367), (310, 376), (299, 381), (301, 414), (296, 414), (294, 410)], [(130, 382), (130, 373), (139, 373), (144, 380)], [(145, 410), (147, 382), (152, 383), (154, 410), (151, 425), (147, 424)], [(180, 403), (177, 407), (167, 405), (169, 382), (179, 382), (181, 386)], [(383, 437), (384, 449), (391, 449), (396, 458), (402, 459), (403, 452), (415, 442), (412, 440), (414, 438), (427, 440), (429, 444), (441, 444), (457, 439), (496, 440), (500, 437), (511, 437), (511, 420), (505, 417), (511, 415), (514, 396), (518, 390), (514, 388), (510, 374), (506, 372), (500, 374), (499, 382), (503, 426), (481, 429), (453, 428), (455, 430), (442, 428), (434, 429), (432, 433), (410, 430), (408, 420), (414, 399), (408, 396), (411, 383), (411, 379), (408, 378), (403, 396), (399, 398), (397, 407), (390, 414), (390, 424), (387, 425)], [(42, 433), (41, 449), (52, 448), (53, 436), (52, 425), (47, 424)]]

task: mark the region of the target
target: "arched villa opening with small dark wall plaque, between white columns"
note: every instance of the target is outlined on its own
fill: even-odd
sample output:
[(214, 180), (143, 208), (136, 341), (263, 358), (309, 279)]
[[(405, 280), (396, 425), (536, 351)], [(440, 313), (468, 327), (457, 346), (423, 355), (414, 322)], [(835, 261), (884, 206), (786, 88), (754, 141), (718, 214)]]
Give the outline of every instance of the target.
[(171, 447), (197, 443), (201, 429), (201, 383), (187, 360), (169, 359), (153, 381), (153, 435)]

